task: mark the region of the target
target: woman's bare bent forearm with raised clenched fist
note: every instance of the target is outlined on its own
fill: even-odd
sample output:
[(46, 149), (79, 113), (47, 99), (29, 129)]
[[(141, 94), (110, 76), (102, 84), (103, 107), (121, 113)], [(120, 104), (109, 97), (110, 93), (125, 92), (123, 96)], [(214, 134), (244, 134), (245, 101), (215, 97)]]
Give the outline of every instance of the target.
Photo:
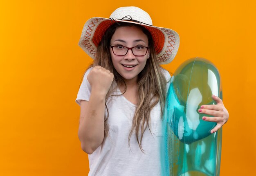
[(82, 150), (92, 154), (104, 139), (104, 114), (106, 94), (114, 75), (101, 66), (92, 68), (87, 79), (92, 87), (90, 100), (81, 100), (78, 137)]

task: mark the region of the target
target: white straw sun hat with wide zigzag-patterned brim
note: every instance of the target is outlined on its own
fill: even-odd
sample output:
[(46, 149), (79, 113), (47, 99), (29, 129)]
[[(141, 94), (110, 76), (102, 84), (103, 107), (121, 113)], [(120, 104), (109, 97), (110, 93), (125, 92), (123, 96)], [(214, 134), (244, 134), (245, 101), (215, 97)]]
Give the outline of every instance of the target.
[(128, 22), (144, 26), (153, 37), (159, 64), (170, 63), (177, 54), (180, 45), (178, 33), (171, 29), (153, 26), (148, 13), (138, 7), (120, 7), (110, 15), (110, 18), (90, 18), (83, 26), (79, 46), (92, 59), (96, 56), (97, 46), (102, 36), (115, 22)]

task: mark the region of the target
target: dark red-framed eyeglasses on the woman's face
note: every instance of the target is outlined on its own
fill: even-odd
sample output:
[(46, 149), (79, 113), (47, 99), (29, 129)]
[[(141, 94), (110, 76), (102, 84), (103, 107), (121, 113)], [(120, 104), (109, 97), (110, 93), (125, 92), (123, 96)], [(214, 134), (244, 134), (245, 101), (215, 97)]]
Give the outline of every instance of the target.
[(132, 50), (132, 54), (135, 56), (144, 56), (148, 52), (149, 47), (137, 45), (132, 48), (129, 48), (122, 45), (117, 45), (117, 46), (110, 45), (110, 48), (112, 48), (114, 55), (118, 55), (118, 56), (126, 55), (128, 53), (128, 50)]

